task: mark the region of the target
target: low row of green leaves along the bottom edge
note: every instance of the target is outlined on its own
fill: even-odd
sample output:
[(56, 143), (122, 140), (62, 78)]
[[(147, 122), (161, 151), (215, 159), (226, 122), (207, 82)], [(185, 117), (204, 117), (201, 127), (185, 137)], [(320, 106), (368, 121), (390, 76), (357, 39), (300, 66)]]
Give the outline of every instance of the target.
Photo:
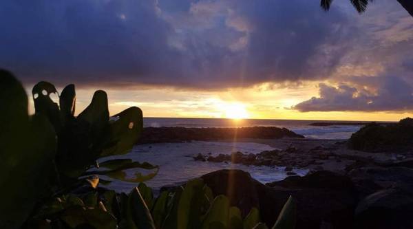
[[(290, 197), (274, 229), (295, 228), (295, 205)], [(242, 219), (240, 209), (230, 206), (224, 195), (213, 197), (202, 179), (192, 179), (156, 198), (143, 183), (129, 195), (105, 189), (61, 195), (45, 204), (30, 222), (32, 227), (45, 224), (53, 228), (268, 228), (260, 223), (257, 208)]]

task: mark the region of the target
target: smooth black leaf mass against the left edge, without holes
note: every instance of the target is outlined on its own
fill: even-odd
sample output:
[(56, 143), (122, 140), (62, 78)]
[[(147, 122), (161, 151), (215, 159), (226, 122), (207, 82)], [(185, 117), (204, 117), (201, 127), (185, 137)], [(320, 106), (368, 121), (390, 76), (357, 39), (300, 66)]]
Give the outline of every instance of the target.
[(28, 115), (21, 83), (1, 70), (0, 105), (0, 228), (18, 228), (50, 193), (56, 138), (46, 118)]

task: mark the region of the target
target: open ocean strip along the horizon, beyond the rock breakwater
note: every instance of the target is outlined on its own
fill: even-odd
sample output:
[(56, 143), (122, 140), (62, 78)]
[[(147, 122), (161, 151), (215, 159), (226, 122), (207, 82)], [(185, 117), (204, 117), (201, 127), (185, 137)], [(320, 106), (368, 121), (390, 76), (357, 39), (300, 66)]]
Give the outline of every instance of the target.
[[(144, 118), (145, 127), (285, 127), (306, 138), (348, 139), (360, 129), (356, 122), (320, 120), (231, 120), (224, 118)], [(314, 122), (345, 122), (348, 125), (310, 126)], [(359, 122), (357, 122), (359, 123)]]

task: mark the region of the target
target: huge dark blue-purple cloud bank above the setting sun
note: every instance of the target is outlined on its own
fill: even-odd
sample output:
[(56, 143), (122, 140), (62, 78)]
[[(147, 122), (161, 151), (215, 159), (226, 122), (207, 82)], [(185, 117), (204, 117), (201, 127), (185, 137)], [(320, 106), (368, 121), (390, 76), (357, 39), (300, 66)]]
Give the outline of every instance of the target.
[(326, 78), (355, 28), (293, 1), (2, 1), (0, 66), (26, 83), (216, 89)]

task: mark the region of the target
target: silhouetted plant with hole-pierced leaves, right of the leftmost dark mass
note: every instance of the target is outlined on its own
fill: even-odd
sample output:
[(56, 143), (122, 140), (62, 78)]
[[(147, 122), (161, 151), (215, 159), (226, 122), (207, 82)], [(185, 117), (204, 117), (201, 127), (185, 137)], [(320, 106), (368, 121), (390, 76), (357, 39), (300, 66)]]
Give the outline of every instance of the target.
[[(34, 85), (32, 95), (36, 115), (50, 120), (57, 134), (56, 168), (63, 186), (71, 184), (82, 175), (100, 174), (127, 182), (144, 182), (156, 173), (127, 178), (129, 168), (158, 169), (148, 163), (140, 164), (131, 160), (108, 160), (96, 163), (100, 157), (127, 153), (142, 133), (142, 111), (130, 107), (109, 118), (105, 91), (94, 93), (92, 102), (77, 117), (74, 116), (76, 91), (74, 85), (67, 85), (59, 96), (59, 105), (50, 98), (58, 94), (51, 83)], [(89, 171), (91, 167), (103, 167), (105, 171)]]

